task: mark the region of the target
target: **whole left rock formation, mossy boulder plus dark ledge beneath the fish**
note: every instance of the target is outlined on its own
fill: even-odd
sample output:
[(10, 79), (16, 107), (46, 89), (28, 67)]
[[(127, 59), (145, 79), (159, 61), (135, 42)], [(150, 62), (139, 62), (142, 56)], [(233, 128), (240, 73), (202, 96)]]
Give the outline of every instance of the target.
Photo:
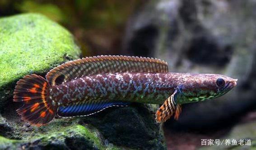
[(164, 150), (162, 127), (153, 105), (104, 110), (90, 117), (58, 118), (33, 127), (15, 112), (16, 82), (24, 75), (44, 76), (51, 68), (80, 55), (73, 36), (38, 14), (0, 19), (0, 149), (16, 150)]

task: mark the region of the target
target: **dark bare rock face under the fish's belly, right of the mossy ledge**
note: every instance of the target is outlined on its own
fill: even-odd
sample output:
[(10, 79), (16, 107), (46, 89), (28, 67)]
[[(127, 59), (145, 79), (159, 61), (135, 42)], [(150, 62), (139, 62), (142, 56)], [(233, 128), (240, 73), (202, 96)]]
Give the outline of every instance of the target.
[(116, 145), (140, 150), (166, 149), (161, 125), (155, 122), (151, 105), (112, 109), (102, 113), (90, 123), (97, 127), (105, 138)]

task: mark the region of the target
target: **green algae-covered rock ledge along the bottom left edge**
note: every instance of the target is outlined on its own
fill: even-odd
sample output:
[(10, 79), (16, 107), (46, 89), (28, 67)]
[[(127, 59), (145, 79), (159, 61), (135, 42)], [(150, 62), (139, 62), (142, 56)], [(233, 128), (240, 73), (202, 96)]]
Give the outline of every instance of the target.
[[(28, 140), (11, 140), (0, 136), (0, 149), (83, 149), (83, 150), (123, 150), (113, 144), (106, 145), (96, 129), (92, 131), (82, 125), (71, 125), (57, 131), (34, 136)], [(127, 150), (132, 150), (126, 148)]]

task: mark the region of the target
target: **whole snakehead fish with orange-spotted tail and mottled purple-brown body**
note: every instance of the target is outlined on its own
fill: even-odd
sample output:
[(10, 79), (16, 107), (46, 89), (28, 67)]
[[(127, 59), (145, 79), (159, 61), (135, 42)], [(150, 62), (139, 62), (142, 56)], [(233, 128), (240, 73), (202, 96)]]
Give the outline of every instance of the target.
[(235, 87), (237, 79), (219, 74), (169, 73), (160, 59), (134, 56), (94, 56), (61, 64), (47, 73), (17, 82), (17, 113), (40, 127), (57, 114), (88, 116), (130, 103), (161, 104), (156, 121), (175, 119), (181, 105), (219, 97)]

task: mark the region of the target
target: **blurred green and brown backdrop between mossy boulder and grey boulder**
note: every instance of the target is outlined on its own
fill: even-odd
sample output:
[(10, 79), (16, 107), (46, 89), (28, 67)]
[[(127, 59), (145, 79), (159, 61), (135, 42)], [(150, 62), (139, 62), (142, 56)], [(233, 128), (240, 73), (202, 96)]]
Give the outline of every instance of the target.
[(130, 15), (145, 0), (0, 0), (0, 16), (38, 13), (67, 27), (85, 55), (119, 54)]

